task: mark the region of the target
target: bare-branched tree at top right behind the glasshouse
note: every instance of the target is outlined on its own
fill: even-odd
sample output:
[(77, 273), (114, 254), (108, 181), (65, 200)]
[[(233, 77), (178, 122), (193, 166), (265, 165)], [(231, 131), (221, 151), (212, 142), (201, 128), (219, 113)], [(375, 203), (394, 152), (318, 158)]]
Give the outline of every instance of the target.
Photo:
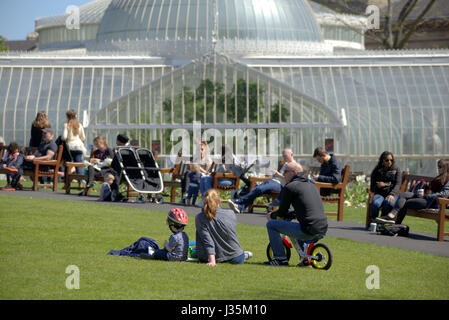
[[(384, 5), (385, 10), (380, 16), (380, 29), (370, 29), (365, 36), (379, 43), (384, 49), (403, 49), (420, 26), (427, 22), (434, 23), (426, 18), (426, 14), (434, 6), (436, 0), (315, 0), (315, 2), (328, 6), (339, 13), (365, 16), (368, 4)], [(411, 15), (412, 12), (414, 15)], [(346, 25), (358, 31), (358, 29)]]

